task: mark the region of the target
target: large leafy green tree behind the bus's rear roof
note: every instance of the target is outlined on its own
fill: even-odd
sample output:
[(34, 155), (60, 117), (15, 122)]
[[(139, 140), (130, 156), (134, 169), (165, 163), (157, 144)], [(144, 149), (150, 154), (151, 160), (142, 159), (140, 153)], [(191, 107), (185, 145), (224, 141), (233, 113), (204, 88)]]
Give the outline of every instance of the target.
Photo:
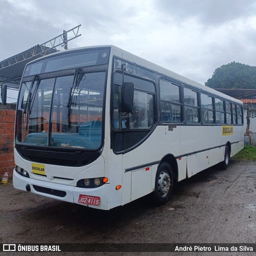
[(216, 68), (205, 83), (210, 88), (256, 89), (256, 66), (231, 62)]

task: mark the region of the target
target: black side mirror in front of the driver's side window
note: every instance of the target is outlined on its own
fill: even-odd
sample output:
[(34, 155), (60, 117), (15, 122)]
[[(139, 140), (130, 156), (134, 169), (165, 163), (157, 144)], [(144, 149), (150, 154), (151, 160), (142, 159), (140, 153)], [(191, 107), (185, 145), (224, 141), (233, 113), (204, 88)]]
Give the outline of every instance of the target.
[(124, 82), (122, 86), (122, 103), (121, 110), (125, 113), (132, 113), (134, 95), (134, 84), (132, 82)]

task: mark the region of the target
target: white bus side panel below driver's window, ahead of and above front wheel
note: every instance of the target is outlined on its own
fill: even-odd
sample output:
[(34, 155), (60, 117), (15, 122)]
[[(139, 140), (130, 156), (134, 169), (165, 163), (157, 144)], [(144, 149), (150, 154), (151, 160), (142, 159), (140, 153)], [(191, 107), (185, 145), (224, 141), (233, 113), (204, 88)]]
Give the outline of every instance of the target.
[[(167, 154), (178, 156), (180, 154), (179, 144), (180, 126), (170, 129), (168, 125), (159, 125), (142, 144), (122, 155), (122, 204), (130, 202), (131, 197), (134, 200), (139, 194), (141, 197), (153, 191), (159, 161)], [(127, 172), (130, 168), (134, 170)], [(150, 170), (146, 171), (146, 168)], [(146, 172), (150, 172), (150, 176)]]

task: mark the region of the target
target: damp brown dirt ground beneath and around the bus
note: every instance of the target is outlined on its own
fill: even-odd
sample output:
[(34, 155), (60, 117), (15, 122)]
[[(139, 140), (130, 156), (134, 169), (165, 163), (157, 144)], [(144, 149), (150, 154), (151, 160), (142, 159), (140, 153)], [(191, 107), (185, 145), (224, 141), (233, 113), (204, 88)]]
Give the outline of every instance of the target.
[[(160, 207), (154, 207), (146, 196), (103, 211), (16, 190), (11, 184), (0, 190), (0, 243), (256, 242), (255, 161), (231, 159), (228, 170), (214, 166), (179, 182), (171, 200)], [(128, 254), (160, 255), (116, 255)]]

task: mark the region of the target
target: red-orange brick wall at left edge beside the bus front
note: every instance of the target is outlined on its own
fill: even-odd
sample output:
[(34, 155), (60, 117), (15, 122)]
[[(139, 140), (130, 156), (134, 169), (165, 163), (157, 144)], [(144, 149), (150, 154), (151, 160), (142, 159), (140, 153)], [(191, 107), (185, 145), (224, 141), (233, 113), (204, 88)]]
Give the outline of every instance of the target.
[(15, 122), (15, 104), (0, 104), (0, 177), (8, 172), (12, 177), (14, 169), (14, 122)]

